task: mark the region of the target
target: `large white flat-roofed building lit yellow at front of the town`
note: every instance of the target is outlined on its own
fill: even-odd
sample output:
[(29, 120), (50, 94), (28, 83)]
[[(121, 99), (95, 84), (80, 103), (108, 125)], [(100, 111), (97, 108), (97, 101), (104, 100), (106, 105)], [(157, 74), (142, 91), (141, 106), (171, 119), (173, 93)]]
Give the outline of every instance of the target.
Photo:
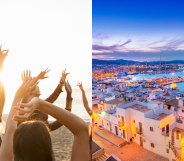
[(134, 141), (170, 161), (184, 158), (184, 127), (176, 122), (176, 112), (164, 109), (160, 101), (135, 101), (93, 116), (99, 125), (127, 142)]

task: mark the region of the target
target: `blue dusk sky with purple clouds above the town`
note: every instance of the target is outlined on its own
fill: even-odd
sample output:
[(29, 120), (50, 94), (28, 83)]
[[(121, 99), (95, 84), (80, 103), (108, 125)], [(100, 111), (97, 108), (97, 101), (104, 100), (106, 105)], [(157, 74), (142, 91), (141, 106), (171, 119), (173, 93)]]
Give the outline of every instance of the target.
[(184, 1), (92, 1), (93, 58), (184, 59)]

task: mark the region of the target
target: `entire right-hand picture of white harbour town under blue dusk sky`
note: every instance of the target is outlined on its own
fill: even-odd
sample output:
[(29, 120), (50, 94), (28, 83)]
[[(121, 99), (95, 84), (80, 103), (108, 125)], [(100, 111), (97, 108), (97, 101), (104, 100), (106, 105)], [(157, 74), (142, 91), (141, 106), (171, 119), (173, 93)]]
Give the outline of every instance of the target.
[(184, 3), (146, 2), (93, 1), (93, 161), (184, 160)]

